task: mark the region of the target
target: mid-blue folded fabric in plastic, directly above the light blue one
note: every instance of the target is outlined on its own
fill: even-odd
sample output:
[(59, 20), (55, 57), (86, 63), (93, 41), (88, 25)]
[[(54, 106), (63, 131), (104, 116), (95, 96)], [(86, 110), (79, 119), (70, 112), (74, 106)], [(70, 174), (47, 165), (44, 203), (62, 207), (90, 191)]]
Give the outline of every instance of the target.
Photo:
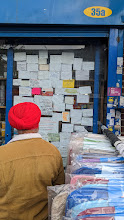
[[(105, 184), (90, 184), (83, 186), (77, 190), (74, 190), (67, 197), (66, 210), (72, 209), (74, 206), (78, 205), (79, 202), (83, 203), (90, 200), (112, 200), (113, 198), (118, 198), (123, 196), (124, 185), (105, 185)], [(124, 199), (121, 201), (123, 202)]]

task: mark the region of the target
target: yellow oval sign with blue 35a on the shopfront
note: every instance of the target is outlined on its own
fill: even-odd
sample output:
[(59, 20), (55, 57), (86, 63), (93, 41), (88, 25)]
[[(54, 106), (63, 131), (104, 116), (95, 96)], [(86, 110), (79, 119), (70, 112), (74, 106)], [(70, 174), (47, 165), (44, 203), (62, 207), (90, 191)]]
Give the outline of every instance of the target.
[(112, 14), (112, 10), (102, 6), (92, 6), (86, 8), (84, 14), (91, 18), (105, 18)]

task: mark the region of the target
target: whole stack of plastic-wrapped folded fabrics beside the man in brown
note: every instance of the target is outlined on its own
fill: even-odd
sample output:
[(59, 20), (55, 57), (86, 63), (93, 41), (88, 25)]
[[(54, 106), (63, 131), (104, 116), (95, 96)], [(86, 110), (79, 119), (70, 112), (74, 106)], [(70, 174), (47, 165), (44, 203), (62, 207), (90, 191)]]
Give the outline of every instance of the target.
[(124, 219), (124, 158), (104, 135), (72, 134), (66, 184), (48, 187), (49, 219)]

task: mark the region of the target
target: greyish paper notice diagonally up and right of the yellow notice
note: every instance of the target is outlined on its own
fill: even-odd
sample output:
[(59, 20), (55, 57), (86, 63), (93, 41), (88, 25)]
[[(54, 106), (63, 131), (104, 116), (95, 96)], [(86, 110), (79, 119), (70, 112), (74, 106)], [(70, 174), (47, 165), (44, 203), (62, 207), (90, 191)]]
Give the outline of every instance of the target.
[(89, 80), (89, 70), (76, 70), (75, 79), (76, 80)]

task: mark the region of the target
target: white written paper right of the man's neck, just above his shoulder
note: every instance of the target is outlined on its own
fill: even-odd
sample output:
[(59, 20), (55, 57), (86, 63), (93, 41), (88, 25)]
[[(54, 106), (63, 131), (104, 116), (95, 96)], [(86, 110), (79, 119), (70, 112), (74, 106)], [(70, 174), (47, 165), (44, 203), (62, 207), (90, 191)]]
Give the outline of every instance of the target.
[(53, 121), (51, 117), (41, 117), (39, 131), (45, 134), (58, 133), (58, 121)]

